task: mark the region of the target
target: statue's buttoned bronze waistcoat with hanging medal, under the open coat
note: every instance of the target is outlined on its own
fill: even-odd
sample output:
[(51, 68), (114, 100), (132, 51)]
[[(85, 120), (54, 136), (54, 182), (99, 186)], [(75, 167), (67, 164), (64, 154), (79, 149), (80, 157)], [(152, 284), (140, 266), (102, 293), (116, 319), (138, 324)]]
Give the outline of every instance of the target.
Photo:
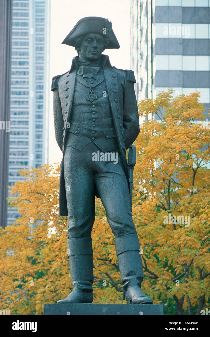
[(102, 152), (108, 152), (116, 150), (117, 146), (103, 70), (99, 71), (96, 78), (85, 81), (83, 76), (76, 76), (70, 134), (66, 145), (81, 151), (93, 142)]

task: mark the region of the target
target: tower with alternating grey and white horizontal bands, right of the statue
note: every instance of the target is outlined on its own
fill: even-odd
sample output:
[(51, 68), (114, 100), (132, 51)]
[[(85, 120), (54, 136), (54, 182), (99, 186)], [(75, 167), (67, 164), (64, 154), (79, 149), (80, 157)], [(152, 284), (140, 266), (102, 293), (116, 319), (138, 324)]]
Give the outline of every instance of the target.
[(210, 0), (131, 0), (137, 99), (200, 91), (210, 107)]

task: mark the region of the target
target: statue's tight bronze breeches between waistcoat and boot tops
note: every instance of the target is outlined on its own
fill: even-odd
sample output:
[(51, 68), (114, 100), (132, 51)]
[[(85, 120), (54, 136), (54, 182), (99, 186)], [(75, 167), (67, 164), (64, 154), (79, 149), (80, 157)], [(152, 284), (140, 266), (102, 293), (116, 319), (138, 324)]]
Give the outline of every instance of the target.
[(121, 158), (118, 156), (118, 163), (93, 161), (92, 153), (97, 151), (99, 148), (93, 142), (82, 151), (70, 146), (66, 146), (64, 150), (68, 239), (91, 237), (95, 220), (95, 188), (115, 238), (137, 233), (132, 220), (128, 182)]

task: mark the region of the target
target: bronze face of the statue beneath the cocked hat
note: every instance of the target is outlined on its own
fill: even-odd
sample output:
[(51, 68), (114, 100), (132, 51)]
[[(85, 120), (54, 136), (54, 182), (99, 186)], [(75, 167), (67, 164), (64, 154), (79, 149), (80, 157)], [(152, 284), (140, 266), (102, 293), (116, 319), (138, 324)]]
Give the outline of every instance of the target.
[(100, 59), (101, 53), (104, 51), (103, 36), (98, 33), (89, 33), (85, 35), (78, 51), (79, 56), (88, 61)]

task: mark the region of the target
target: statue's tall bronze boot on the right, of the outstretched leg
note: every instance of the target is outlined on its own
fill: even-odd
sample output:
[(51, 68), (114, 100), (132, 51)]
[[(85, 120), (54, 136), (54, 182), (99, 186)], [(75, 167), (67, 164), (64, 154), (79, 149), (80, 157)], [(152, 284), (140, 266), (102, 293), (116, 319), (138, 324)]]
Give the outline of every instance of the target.
[(123, 300), (130, 304), (153, 304), (152, 299), (141, 290), (144, 272), (137, 234), (116, 238), (115, 247), (122, 277)]

